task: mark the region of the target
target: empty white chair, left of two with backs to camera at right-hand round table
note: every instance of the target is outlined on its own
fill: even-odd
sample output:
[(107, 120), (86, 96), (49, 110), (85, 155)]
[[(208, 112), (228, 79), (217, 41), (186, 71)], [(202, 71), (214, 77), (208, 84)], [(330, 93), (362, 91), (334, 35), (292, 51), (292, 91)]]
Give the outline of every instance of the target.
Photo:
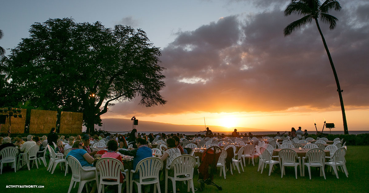
[[(296, 160), (298, 162), (296, 162)], [(301, 172), (301, 157), (297, 156), (296, 151), (293, 149), (281, 149), (279, 151), (279, 162), (280, 162), (280, 178), (283, 178), (283, 175), (286, 175), (284, 172), (284, 166), (293, 166), (295, 168), (295, 176), (297, 179), (297, 166), (300, 166), (300, 176), (302, 176)]]

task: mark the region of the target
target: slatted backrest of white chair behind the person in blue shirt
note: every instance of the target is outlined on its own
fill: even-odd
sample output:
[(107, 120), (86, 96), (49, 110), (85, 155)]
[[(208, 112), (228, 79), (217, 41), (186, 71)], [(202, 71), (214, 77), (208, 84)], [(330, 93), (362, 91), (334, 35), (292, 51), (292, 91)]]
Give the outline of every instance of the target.
[(135, 172), (139, 173), (139, 181), (140, 183), (142, 183), (149, 178), (159, 180), (159, 172), (162, 169), (163, 169), (163, 161), (160, 158), (150, 157), (139, 161), (137, 163)]

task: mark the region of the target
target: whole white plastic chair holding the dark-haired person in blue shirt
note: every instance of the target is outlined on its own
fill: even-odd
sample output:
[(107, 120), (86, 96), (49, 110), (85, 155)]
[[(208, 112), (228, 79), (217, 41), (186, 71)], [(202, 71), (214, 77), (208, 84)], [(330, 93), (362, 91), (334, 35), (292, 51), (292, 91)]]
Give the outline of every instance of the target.
[[(159, 172), (162, 169), (163, 161), (160, 158), (150, 157), (139, 161), (136, 170), (131, 170), (130, 193), (132, 193), (133, 183), (137, 185), (138, 193), (141, 193), (141, 185), (148, 184), (155, 184), (154, 193), (156, 193), (156, 188), (158, 188), (158, 192), (160, 193)], [(139, 179), (133, 179), (134, 173), (139, 173)]]

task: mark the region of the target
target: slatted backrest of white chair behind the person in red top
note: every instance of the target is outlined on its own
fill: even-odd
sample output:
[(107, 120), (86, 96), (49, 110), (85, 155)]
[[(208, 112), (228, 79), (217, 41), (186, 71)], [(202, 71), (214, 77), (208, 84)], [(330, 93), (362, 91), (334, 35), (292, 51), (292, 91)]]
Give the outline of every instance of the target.
[(115, 179), (119, 183), (120, 172), (124, 171), (123, 163), (115, 158), (101, 158), (96, 162), (100, 173), (100, 182), (104, 179)]

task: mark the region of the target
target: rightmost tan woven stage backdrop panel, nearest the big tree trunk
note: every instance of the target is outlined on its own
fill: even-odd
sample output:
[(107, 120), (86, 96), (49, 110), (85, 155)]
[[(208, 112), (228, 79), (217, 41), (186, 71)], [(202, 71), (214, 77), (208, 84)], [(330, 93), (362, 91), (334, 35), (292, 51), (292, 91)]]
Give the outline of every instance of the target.
[(59, 133), (82, 133), (83, 113), (64, 112), (60, 116)]

